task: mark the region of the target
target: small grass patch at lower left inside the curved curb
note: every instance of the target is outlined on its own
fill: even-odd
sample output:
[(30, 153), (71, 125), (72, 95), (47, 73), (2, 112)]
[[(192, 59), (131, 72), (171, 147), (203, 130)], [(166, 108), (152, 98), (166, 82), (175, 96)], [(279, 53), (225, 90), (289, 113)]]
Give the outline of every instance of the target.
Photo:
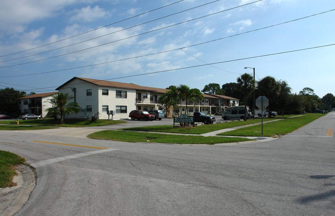
[(0, 150), (0, 188), (13, 187), (13, 176), (16, 174), (15, 165), (24, 163), (25, 159), (16, 154)]

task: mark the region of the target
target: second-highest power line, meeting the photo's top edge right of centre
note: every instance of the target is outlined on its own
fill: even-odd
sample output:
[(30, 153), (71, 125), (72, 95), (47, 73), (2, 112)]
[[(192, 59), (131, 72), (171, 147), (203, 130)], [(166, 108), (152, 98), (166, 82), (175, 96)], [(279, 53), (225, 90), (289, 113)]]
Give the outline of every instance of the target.
[[(192, 9), (195, 9), (195, 8), (198, 8), (198, 7), (202, 7), (202, 6), (204, 6), (204, 5), (208, 5), (208, 4), (217, 2), (217, 1), (221, 1), (221, 0), (215, 0), (215, 1), (212, 1), (212, 2), (209, 2), (209, 3), (206, 3), (206, 4), (203, 4), (203, 5), (199, 5), (199, 6), (196, 6), (196, 7), (193, 7), (193, 8), (189, 8), (189, 9), (187, 9), (187, 10), (183, 10), (183, 11), (174, 13), (174, 14), (170, 14), (170, 15), (163, 16), (163, 17), (160, 17), (160, 18), (157, 18), (157, 19), (153, 19), (153, 20), (150, 20), (150, 21), (147, 21), (147, 22), (138, 24), (138, 25), (133, 25), (133, 26), (128, 27), (128, 28), (124, 28), (124, 29), (121, 29), (121, 30), (118, 30), (118, 31), (114, 31), (114, 32), (108, 33), (108, 34), (104, 34), (104, 35), (101, 35), (101, 36), (99, 36), (99, 37), (91, 38), (91, 39), (88, 39), (88, 40), (85, 40), (85, 41), (81, 41), (81, 42), (78, 42), (78, 43), (75, 43), (75, 44), (70, 44), (70, 45), (67, 45), (67, 46), (64, 46), (64, 47), (56, 48), (56, 49), (49, 50), (49, 51), (45, 51), (45, 52), (42, 52), (42, 53), (33, 54), (33, 55), (30, 55), (30, 56), (24, 56), (24, 57), (20, 57), (20, 58), (16, 58), (16, 59), (10, 59), (10, 60), (6, 60), (6, 61), (0, 61), (0, 63), (2, 63), (2, 62), (14, 61), (14, 60), (18, 60), (18, 59), (24, 59), (24, 58), (28, 58), (28, 57), (31, 57), (31, 56), (37, 56), (37, 55), (41, 55), (41, 54), (44, 54), (44, 53), (52, 52), (52, 51), (55, 51), (55, 50), (60, 50), (60, 49), (66, 48), (66, 47), (71, 47), (71, 46), (74, 46), (74, 45), (77, 45), (77, 44), (81, 44), (81, 43), (84, 43), (84, 42), (87, 42), (87, 41), (91, 41), (91, 40), (94, 40), (94, 39), (97, 39), (97, 38), (105, 37), (105, 36), (110, 35), (110, 34), (114, 34), (114, 33), (117, 33), (117, 32), (120, 32), (120, 31), (124, 31), (124, 30), (130, 29), (130, 28), (134, 28), (134, 27), (137, 27), (137, 26), (140, 26), (140, 25), (143, 25), (143, 24), (147, 24), (147, 23), (149, 23), (149, 22), (153, 22), (153, 21), (157, 21), (157, 20), (159, 20), (159, 19), (163, 19), (163, 18), (166, 18), (166, 17), (169, 17), (169, 16), (173, 16), (173, 15), (176, 15), (176, 14), (179, 14), (179, 13), (182, 13), (182, 12), (185, 12), (185, 11), (188, 11), (188, 10), (192, 10)], [(261, 0), (261, 1), (262, 1), (262, 0)]]

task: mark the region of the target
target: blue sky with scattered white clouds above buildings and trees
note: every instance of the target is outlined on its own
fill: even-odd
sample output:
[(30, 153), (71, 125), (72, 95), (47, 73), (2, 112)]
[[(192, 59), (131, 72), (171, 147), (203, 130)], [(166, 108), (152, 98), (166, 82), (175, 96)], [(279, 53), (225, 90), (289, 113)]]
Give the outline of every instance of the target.
[(335, 1), (178, 1), (1, 1), (0, 88), (52, 92), (76, 76), (202, 90), (255, 67), (292, 93), (335, 95)]

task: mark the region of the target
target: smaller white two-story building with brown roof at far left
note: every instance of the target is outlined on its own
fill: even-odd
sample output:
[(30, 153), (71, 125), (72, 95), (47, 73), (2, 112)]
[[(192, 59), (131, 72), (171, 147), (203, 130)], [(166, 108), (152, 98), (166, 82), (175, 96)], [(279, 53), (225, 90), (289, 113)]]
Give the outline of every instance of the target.
[(41, 115), (45, 117), (47, 115), (47, 109), (51, 107), (51, 103), (47, 102), (48, 99), (52, 99), (52, 95), (58, 92), (49, 92), (42, 94), (32, 94), (29, 96), (18, 98), (18, 105), (20, 112), (23, 114), (31, 113), (34, 115)]

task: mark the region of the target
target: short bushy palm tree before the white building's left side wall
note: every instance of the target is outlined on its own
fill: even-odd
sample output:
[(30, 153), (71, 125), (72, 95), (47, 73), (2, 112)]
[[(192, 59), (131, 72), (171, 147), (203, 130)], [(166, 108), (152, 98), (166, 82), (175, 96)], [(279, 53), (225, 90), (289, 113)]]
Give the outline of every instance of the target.
[[(52, 104), (52, 107), (48, 108), (48, 114), (47, 116), (55, 116), (55, 115), (61, 115), (60, 119), (60, 125), (64, 124), (64, 115), (65, 114), (71, 114), (71, 113), (79, 113), (80, 106), (77, 102), (69, 102), (69, 100), (73, 99), (73, 96), (69, 96), (69, 93), (57, 93), (52, 95), (52, 99), (48, 99), (49, 103)], [(50, 112), (50, 114), (49, 114)]]

